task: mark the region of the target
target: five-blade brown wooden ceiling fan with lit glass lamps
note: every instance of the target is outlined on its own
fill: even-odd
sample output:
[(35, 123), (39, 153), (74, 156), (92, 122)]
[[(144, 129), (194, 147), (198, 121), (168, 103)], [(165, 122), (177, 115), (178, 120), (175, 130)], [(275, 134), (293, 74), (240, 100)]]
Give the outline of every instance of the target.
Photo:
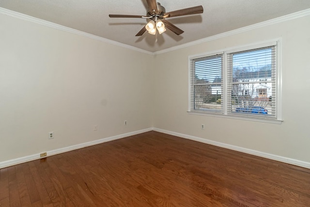
[[(138, 15), (109, 15), (109, 17), (125, 17), (125, 18), (145, 18), (150, 21), (143, 27), (136, 36), (141, 36), (145, 31), (148, 31), (150, 34), (161, 34), (166, 31), (166, 28), (171, 30), (177, 35), (182, 34), (184, 31), (175, 25), (171, 24), (166, 18), (175, 17), (175, 16), (186, 16), (186, 15), (195, 15), (203, 13), (202, 6), (195, 6), (186, 9), (176, 10), (172, 12), (167, 12), (163, 6), (160, 5), (156, 0), (146, 0), (149, 11), (146, 16)], [(157, 40), (157, 38), (156, 38)], [(156, 41), (157, 42), (157, 41)]]

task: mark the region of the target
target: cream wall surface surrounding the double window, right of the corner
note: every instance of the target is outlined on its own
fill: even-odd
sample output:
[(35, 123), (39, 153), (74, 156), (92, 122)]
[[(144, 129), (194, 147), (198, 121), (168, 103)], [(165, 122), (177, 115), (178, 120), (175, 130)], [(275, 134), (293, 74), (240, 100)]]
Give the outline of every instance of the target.
[[(310, 16), (158, 54), (154, 127), (310, 162)], [(282, 38), (282, 124), (188, 114), (188, 56)], [(205, 124), (206, 129), (201, 129)], [(184, 137), (186, 137), (184, 136)], [(310, 165), (309, 165), (310, 167)]]

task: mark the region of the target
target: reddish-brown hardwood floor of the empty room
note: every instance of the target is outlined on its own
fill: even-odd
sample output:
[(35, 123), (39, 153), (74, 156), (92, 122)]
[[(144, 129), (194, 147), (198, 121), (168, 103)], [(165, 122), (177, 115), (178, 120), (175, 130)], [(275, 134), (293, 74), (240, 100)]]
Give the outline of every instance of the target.
[(310, 169), (147, 132), (0, 169), (0, 207), (310, 207)]

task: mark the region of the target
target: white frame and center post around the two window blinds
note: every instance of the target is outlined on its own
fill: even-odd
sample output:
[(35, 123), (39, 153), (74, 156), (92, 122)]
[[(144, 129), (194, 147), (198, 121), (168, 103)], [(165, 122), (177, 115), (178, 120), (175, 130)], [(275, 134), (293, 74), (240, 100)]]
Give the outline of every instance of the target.
[[(275, 67), (275, 89), (276, 89), (276, 97), (275, 97), (275, 109), (277, 110), (276, 116), (274, 118), (264, 118), (263, 116), (251, 116), (251, 114), (232, 114), (232, 112), (228, 112), (228, 72), (229, 72), (229, 65), (228, 65), (228, 55), (235, 52), (243, 52), (252, 49), (264, 48), (264, 47), (271, 47), (275, 46), (275, 58), (276, 58), (276, 67)], [(214, 55), (223, 54), (223, 94), (224, 97), (223, 101), (223, 111), (222, 113), (214, 113), (211, 110), (192, 110), (192, 78), (191, 78), (191, 64), (192, 61), (199, 58), (207, 58)], [(248, 45), (236, 46), (233, 48), (225, 48), (222, 50), (211, 51), (207, 53), (202, 53), (198, 55), (191, 55), (188, 56), (188, 113), (195, 114), (195, 115), (205, 115), (205, 116), (215, 116), (215, 117), (225, 117), (225, 118), (233, 118), (233, 119), (241, 119), (241, 120), (248, 120), (248, 121), (258, 121), (258, 122), (266, 122), (266, 123), (275, 123), (281, 124), (282, 123), (282, 76), (281, 76), (281, 39), (269, 40), (264, 42), (258, 42)]]

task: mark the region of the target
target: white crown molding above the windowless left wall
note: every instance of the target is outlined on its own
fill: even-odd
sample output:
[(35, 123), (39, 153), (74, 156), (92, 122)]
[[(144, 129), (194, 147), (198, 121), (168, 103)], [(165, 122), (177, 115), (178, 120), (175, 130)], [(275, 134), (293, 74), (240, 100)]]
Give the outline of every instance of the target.
[(53, 29), (61, 30), (61, 31), (64, 31), (64, 32), (70, 32), (70, 33), (73, 33), (73, 34), (78, 34), (80, 36), (88, 37), (88, 38), (91, 38), (91, 39), (94, 39), (94, 40), (98, 40), (98, 41), (101, 41), (101, 42), (105, 42), (105, 43), (109, 43), (109, 44), (112, 44), (112, 45), (115, 45), (115, 46), (119, 46), (119, 47), (131, 49), (131, 50), (135, 50), (135, 51), (146, 53), (146, 54), (149, 54), (149, 55), (154, 55), (153, 52), (150, 52), (150, 51), (147, 51), (147, 50), (144, 50), (144, 49), (140, 49), (140, 48), (136, 48), (136, 47), (133, 47), (133, 46), (129, 46), (129, 45), (126, 45), (126, 44), (123, 44), (123, 43), (119, 43), (119, 42), (116, 42), (116, 41), (113, 41), (113, 40), (109, 40), (109, 39), (106, 39), (106, 38), (103, 38), (103, 37), (99, 37), (99, 36), (96, 36), (96, 35), (93, 35), (93, 34), (90, 34), (90, 33), (87, 33), (87, 32), (82, 32), (82, 31), (79, 31), (79, 30), (75, 30), (75, 29), (72, 29), (72, 28), (69, 28), (69, 27), (65, 27), (65, 26), (62, 26), (62, 25), (59, 25), (59, 24), (55, 24), (55, 23), (52, 23), (52, 22), (49, 22), (49, 21), (46, 21), (46, 20), (43, 20), (43, 19), (39, 19), (39, 18), (36, 18), (36, 17), (33, 17), (33, 16), (24, 15), (24, 14), (21, 14), (21, 13), (18, 13), (18, 12), (14, 12), (14, 11), (11, 11), (11, 10), (8, 10), (8, 9), (4, 9), (2, 7), (0, 7), (0, 14), (7, 15), (7, 16), (12, 16), (12, 17), (15, 17), (15, 18), (19, 18), (19, 19), (22, 19), (22, 20), (25, 20), (25, 21), (33, 22), (33, 23), (40, 24), (40, 25), (43, 25), (43, 26), (46, 26), (46, 27), (50, 27), (50, 28), (53, 28)]

